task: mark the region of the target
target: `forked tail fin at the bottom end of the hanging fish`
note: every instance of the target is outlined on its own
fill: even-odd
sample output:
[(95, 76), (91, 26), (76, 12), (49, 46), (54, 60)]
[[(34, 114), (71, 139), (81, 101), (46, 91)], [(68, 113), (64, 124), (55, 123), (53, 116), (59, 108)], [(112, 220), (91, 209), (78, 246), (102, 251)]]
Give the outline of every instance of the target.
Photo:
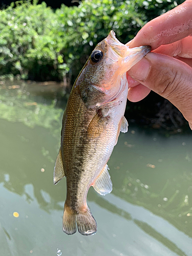
[(62, 229), (67, 234), (76, 232), (76, 224), (79, 233), (90, 236), (97, 231), (97, 223), (91, 214), (89, 207), (86, 211), (76, 211), (71, 209), (66, 203), (62, 219)]

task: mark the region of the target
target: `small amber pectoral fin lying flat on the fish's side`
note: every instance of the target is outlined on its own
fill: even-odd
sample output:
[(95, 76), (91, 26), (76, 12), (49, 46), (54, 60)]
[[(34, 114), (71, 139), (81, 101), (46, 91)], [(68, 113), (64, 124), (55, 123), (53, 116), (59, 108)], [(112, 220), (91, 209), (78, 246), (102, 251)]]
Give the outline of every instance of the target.
[(97, 113), (88, 126), (87, 138), (88, 139), (98, 138), (103, 133), (104, 127), (107, 122), (108, 122), (107, 117), (100, 116)]

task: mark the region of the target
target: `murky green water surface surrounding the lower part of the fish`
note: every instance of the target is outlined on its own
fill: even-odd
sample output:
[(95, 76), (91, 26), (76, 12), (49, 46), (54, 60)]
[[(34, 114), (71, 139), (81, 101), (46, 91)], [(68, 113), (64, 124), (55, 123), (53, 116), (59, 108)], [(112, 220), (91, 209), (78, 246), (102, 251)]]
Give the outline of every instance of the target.
[(192, 133), (130, 123), (108, 163), (112, 193), (88, 194), (97, 233), (67, 236), (66, 180), (53, 185), (62, 88), (16, 85), (0, 85), (0, 255), (192, 255)]

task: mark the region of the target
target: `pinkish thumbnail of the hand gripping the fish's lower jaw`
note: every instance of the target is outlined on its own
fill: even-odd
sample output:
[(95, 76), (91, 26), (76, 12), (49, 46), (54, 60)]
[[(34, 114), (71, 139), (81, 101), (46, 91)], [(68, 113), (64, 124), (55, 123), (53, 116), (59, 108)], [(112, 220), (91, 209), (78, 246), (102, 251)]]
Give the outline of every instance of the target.
[(129, 71), (128, 74), (142, 82), (145, 81), (148, 72), (150, 71), (151, 63), (146, 58), (142, 58), (136, 65), (134, 65)]

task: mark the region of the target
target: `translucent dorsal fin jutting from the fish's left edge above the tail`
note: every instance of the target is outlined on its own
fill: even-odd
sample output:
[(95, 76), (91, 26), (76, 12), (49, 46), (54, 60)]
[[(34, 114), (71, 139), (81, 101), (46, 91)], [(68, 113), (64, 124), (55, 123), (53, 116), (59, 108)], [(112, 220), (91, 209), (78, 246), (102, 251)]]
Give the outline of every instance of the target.
[(54, 167), (54, 176), (53, 176), (54, 185), (56, 185), (63, 177), (65, 177), (65, 172), (63, 169), (61, 148), (60, 148), (56, 162), (55, 162), (55, 167)]

